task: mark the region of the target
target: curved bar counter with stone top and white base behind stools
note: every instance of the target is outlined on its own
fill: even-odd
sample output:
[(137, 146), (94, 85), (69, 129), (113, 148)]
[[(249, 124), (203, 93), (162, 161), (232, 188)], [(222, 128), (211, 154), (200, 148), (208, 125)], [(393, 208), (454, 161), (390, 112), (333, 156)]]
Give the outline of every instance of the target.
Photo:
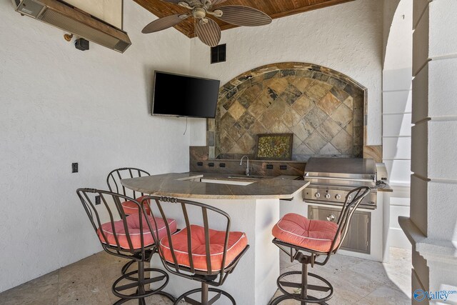
[[(231, 216), (231, 231), (245, 232), (251, 247), (221, 289), (229, 292), (237, 304), (265, 305), (276, 292), (279, 276), (279, 250), (271, 243), (271, 229), (279, 221), (280, 199), (301, 196), (309, 184), (295, 178), (184, 173), (124, 179), (121, 184), (145, 194), (190, 199), (226, 211)], [(176, 212), (176, 216), (169, 217), (176, 219), (181, 229), (185, 223), (178, 215)], [(199, 224), (199, 220), (192, 222)], [(210, 227), (224, 229), (217, 221)], [(153, 256), (151, 266), (163, 268), (158, 256)], [(196, 288), (196, 282), (170, 274), (164, 291), (179, 296)]]

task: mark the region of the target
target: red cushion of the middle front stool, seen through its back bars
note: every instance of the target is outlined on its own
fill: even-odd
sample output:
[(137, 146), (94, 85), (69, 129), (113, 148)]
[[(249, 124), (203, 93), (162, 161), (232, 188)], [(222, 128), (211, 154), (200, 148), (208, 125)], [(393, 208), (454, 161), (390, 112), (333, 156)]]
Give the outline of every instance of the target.
[[(206, 242), (205, 229), (203, 226), (191, 225), (191, 241), (192, 241), (192, 261), (194, 269), (208, 271), (206, 264)], [(181, 266), (190, 268), (189, 250), (187, 246), (188, 229), (184, 228), (178, 233), (171, 236), (172, 246), (176, 261)], [(211, 271), (219, 271), (222, 266), (222, 256), (224, 256), (224, 243), (226, 231), (216, 231), (209, 229), (209, 251), (211, 255)], [(229, 266), (236, 256), (241, 254), (248, 239), (243, 232), (229, 232), (229, 244), (227, 246), (227, 256), (224, 268)], [(160, 249), (166, 261), (174, 264), (173, 256), (171, 255), (170, 243), (168, 237), (164, 237), (160, 241)]]

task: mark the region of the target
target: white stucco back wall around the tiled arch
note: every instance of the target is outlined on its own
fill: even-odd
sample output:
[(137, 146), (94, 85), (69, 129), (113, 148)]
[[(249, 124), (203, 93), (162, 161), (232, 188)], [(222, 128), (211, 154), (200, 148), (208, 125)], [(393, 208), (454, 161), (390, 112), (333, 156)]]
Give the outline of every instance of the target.
[[(191, 71), (221, 84), (258, 66), (301, 61), (327, 66), (368, 88), (368, 144), (381, 144), (383, 1), (358, 0), (275, 19), (268, 26), (222, 32), (227, 61), (210, 64), (209, 47), (191, 43)], [(206, 144), (204, 120), (192, 124), (191, 144)]]

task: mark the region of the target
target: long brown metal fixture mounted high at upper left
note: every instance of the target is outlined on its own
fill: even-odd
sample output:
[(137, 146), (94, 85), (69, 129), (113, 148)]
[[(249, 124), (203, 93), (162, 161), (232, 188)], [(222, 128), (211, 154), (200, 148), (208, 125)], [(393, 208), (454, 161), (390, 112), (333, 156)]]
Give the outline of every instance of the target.
[(13, 0), (16, 11), (76, 36), (124, 53), (131, 45), (125, 31), (57, 0)]

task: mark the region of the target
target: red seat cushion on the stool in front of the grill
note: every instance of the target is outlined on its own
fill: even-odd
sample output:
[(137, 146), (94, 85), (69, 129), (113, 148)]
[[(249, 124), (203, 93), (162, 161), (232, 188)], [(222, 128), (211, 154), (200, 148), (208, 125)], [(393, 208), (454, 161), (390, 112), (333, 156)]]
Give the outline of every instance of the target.
[[(314, 251), (328, 252), (335, 238), (338, 225), (331, 221), (310, 220), (298, 214), (286, 214), (273, 226), (272, 234), (288, 244)], [(340, 235), (333, 247), (340, 242)]]

